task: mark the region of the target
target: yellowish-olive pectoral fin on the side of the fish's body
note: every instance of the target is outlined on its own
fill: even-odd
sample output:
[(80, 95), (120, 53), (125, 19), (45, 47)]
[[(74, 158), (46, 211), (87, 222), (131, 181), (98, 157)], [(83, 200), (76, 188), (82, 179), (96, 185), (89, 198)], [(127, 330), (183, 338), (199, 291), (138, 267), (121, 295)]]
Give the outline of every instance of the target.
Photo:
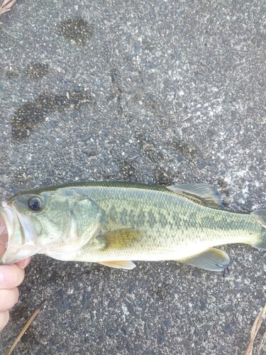
[(140, 231), (130, 228), (117, 229), (116, 231), (107, 231), (94, 238), (98, 249), (106, 251), (125, 249), (131, 246), (131, 243), (140, 237)]

